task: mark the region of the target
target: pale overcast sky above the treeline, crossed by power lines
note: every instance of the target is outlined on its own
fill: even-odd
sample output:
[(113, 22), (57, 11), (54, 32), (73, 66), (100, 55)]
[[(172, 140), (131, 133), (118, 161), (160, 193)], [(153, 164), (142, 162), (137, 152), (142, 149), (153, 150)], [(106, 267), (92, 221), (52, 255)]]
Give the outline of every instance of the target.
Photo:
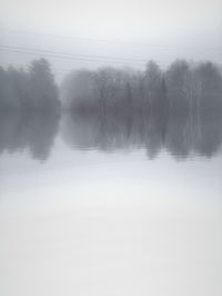
[[(0, 42), (74, 55), (155, 59), (161, 65), (175, 58), (220, 62), (221, 11), (221, 0), (0, 0), (1, 29), (18, 30), (1, 31)], [(6, 52), (4, 49), (0, 62), (16, 65), (30, 59), (33, 55)], [(80, 59), (53, 58), (50, 61), (60, 69), (100, 65)], [(130, 66), (141, 67), (141, 62)]]

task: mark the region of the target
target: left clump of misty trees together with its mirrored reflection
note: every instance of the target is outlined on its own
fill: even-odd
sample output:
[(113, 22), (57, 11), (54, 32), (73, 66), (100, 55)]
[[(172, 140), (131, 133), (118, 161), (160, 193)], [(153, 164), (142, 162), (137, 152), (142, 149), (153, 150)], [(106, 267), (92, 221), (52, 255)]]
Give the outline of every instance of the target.
[(28, 70), (0, 67), (0, 154), (27, 150), (46, 160), (58, 132), (59, 89), (44, 59)]

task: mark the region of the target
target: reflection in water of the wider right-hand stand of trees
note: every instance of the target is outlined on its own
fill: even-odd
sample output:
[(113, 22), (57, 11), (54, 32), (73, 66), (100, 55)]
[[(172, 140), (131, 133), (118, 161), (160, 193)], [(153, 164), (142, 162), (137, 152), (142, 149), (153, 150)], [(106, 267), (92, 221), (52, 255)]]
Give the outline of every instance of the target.
[(115, 151), (143, 147), (150, 159), (167, 149), (176, 159), (190, 156), (212, 157), (222, 144), (222, 118), (208, 120), (174, 117), (162, 122), (154, 116), (137, 114), (122, 117), (118, 114), (67, 114), (63, 137), (75, 149)]

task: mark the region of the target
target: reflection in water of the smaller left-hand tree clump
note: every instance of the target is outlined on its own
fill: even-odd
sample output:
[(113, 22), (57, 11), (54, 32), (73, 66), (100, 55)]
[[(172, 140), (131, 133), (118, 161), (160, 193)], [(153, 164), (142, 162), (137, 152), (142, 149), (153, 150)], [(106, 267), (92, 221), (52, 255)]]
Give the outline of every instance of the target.
[(33, 159), (47, 160), (59, 128), (54, 112), (7, 112), (0, 116), (0, 154), (28, 149)]

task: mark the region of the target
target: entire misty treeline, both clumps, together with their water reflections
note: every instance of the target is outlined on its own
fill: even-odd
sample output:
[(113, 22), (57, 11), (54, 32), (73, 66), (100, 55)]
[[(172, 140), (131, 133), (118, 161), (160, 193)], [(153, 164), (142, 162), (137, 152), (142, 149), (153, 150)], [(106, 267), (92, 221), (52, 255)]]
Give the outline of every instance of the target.
[[(64, 137), (81, 149), (139, 146), (150, 158), (162, 149), (186, 158), (211, 157), (222, 145), (222, 76), (212, 62), (78, 70), (65, 77), (60, 93), (70, 111), (62, 120)], [(0, 152), (28, 149), (47, 159), (60, 110), (47, 60), (34, 60), (26, 71), (0, 67)]]

